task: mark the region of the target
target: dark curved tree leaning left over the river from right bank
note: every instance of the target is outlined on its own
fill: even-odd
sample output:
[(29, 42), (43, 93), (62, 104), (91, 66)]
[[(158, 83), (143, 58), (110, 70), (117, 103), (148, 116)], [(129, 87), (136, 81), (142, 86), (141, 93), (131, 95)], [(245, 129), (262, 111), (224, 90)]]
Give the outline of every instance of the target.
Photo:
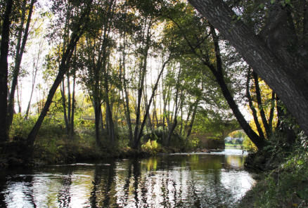
[[(183, 18), (183, 12), (186, 13), (185, 18)], [(252, 142), (257, 145), (257, 148), (262, 149), (265, 144), (264, 138), (258, 136), (251, 129), (245, 117), (240, 112), (236, 100), (233, 98), (232, 87), (227, 82), (226, 66), (222, 60), (219, 45), (220, 39), (214, 27), (207, 20), (195, 15), (192, 8), (188, 6), (182, 6), (182, 8), (179, 6), (177, 13), (174, 13), (173, 16), (167, 13), (167, 18), (172, 20), (174, 25), (178, 27), (177, 34), (181, 35), (181, 41), (185, 41), (186, 47), (188, 46), (188, 48), (184, 49), (190, 50), (192, 55), (198, 58), (198, 62), (203, 65), (202, 72), (204, 76), (208, 76), (209, 72), (212, 74), (240, 126)], [(181, 24), (178, 22), (181, 22)]]

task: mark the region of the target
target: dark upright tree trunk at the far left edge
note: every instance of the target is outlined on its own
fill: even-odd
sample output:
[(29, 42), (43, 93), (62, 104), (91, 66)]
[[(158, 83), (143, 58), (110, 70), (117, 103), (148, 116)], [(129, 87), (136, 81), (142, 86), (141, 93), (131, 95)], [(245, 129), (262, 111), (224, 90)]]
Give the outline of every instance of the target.
[(8, 43), (10, 40), (10, 15), (13, 0), (6, 1), (6, 11), (2, 22), (1, 54), (0, 54), (0, 142), (8, 140), (6, 115), (8, 110)]

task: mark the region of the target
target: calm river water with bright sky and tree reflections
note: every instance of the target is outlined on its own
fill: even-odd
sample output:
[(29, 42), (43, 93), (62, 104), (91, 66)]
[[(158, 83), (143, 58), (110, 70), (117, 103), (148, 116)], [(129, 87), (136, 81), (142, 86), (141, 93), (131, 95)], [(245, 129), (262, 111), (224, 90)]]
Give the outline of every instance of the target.
[(241, 150), (0, 174), (0, 207), (234, 207), (255, 181)]

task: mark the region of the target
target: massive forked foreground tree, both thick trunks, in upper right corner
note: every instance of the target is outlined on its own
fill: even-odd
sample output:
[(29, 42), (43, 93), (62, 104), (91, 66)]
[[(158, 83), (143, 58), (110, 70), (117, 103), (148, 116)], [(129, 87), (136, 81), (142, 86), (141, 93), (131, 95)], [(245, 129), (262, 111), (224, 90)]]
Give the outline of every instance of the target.
[[(262, 19), (266, 22), (262, 32), (256, 34), (254, 28), (248, 27), (222, 0), (189, 2), (233, 44), (245, 61), (281, 98), (302, 130), (308, 134), (308, 63), (307, 55), (304, 56), (307, 54), (307, 9), (302, 12), (302, 23), (297, 25), (302, 26), (297, 27), (301, 31), (298, 33), (296, 27), (293, 27), (291, 14), (295, 10), (290, 12), (290, 4), (267, 4), (269, 15), (266, 20)], [(303, 8), (307, 8), (307, 1), (301, 3), (304, 4)], [(299, 4), (294, 1), (293, 5)], [(294, 39), (295, 34), (300, 34), (300, 37)], [(290, 47), (295, 50), (288, 50)]]

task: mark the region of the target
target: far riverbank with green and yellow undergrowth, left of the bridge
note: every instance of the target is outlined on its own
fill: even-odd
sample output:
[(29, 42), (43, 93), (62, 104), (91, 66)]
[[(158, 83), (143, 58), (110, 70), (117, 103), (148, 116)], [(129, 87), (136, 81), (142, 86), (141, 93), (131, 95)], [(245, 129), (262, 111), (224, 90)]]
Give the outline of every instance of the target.
[(158, 153), (183, 152), (177, 147), (167, 148), (150, 140), (143, 143), (139, 150), (134, 150), (127, 144), (126, 140), (117, 141), (115, 144), (104, 141), (99, 148), (91, 137), (77, 137), (74, 140), (39, 138), (34, 145), (33, 157), (31, 160), (25, 160), (27, 155), (25, 142), (9, 141), (1, 144), (3, 150), (0, 151), (0, 169), (91, 162), (108, 158), (144, 158)]

